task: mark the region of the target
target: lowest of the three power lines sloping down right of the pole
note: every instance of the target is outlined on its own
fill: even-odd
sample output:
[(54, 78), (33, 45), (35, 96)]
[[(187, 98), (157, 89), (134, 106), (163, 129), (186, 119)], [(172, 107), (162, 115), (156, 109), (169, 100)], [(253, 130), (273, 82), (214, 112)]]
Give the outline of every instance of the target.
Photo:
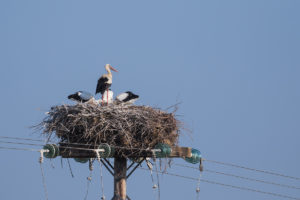
[[(142, 170), (149, 170), (149, 169), (142, 168), (142, 167), (140, 169), (142, 169)], [(183, 175), (180, 175), (180, 174), (174, 174), (174, 173), (169, 173), (169, 172), (161, 172), (161, 171), (158, 171), (158, 173), (160, 173), (160, 174), (167, 174), (167, 175), (170, 175), (170, 176), (176, 176), (176, 177), (179, 177), (179, 178), (189, 179), (189, 180), (193, 180), (193, 181), (198, 181), (197, 178), (189, 177), (189, 176), (183, 176)], [(240, 186), (235, 186), (235, 185), (230, 185), (230, 184), (225, 184), (225, 183), (210, 181), (210, 180), (207, 180), (207, 179), (201, 179), (201, 181), (202, 182), (206, 182), (206, 183), (210, 183), (210, 184), (214, 184), (214, 185), (220, 185), (220, 186), (224, 186), (224, 187), (230, 187), (230, 188), (239, 189), (239, 190), (245, 190), (245, 191), (249, 191), (249, 192), (261, 193), (261, 194), (266, 194), (266, 195), (270, 195), (270, 196), (281, 197), (281, 198), (285, 198), (285, 199), (300, 200), (300, 198), (297, 198), (297, 197), (291, 197), (291, 196), (287, 196), (287, 195), (283, 195), (283, 194), (266, 192), (266, 191), (252, 189), (252, 188), (247, 188), (247, 187), (240, 187)]]

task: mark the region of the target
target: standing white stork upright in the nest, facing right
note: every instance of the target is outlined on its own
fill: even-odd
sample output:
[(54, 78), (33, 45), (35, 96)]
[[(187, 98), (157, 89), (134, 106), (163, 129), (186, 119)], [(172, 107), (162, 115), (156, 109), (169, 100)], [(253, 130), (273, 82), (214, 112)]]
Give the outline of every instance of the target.
[(113, 68), (110, 64), (106, 64), (105, 65), (105, 69), (108, 72), (107, 74), (103, 74), (99, 79), (98, 79), (98, 83), (97, 83), (97, 87), (96, 87), (96, 94), (97, 93), (101, 93), (102, 95), (102, 102), (103, 102), (103, 94), (105, 91), (107, 91), (106, 94), (106, 98), (107, 98), (107, 102), (108, 102), (108, 89), (110, 88), (111, 84), (112, 84), (112, 73), (110, 70), (113, 70), (115, 72), (118, 72), (115, 68)]

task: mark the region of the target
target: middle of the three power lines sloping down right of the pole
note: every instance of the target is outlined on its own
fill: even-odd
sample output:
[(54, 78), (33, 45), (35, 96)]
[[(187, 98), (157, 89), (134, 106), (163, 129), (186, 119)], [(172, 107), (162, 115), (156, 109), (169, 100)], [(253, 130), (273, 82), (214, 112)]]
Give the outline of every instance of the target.
[[(173, 164), (173, 165), (199, 170), (199, 168), (197, 168), (197, 167), (191, 167), (191, 166), (188, 166), (188, 165), (182, 165), (182, 164)], [(269, 182), (269, 181), (265, 181), (265, 180), (253, 179), (253, 178), (238, 176), (238, 175), (230, 174), (230, 173), (218, 172), (218, 171), (209, 170), (209, 169), (205, 169), (204, 171), (209, 172), (209, 173), (213, 173), (213, 174), (231, 176), (231, 177), (234, 177), (234, 178), (244, 179), (244, 180), (248, 180), (248, 181), (255, 181), (255, 182), (259, 182), (259, 183), (264, 183), (264, 184), (275, 185), (275, 186), (279, 186), (279, 187), (285, 187), (285, 188), (300, 190), (299, 187), (292, 186), (292, 185), (285, 185), (285, 184), (281, 184), (281, 183), (274, 183), (274, 182)]]

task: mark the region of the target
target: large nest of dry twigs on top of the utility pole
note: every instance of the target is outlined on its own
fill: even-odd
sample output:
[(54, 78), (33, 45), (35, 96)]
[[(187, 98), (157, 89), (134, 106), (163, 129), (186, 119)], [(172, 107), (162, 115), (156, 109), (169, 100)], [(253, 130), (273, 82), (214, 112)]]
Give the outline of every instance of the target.
[(127, 149), (152, 149), (158, 143), (178, 142), (179, 121), (174, 113), (149, 106), (87, 103), (54, 106), (39, 125), (50, 138), (62, 143), (108, 143)]

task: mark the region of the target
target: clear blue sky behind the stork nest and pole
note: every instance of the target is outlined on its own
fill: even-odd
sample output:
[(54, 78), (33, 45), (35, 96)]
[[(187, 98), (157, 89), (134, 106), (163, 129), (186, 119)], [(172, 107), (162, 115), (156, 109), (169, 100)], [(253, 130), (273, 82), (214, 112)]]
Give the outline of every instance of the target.
[[(2, 0), (0, 135), (38, 138), (28, 127), (77, 90), (94, 92), (104, 65), (115, 94), (166, 108), (182, 102), (180, 144), (204, 157), (300, 176), (300, 1)], [(4, 145), (2, 145), (4, 146)], [(6, 145), (8, 146), (8, 145)], [(1, 150), (0, 199), (44, 199), (38, 153)], [(184, 163), (181, 159), (177, 163)], [(49, 199), (83, 199), (88, 167), (45, 162)], [(214, 169), (300, 186), (205, 163)], [(174, 166), (175, 173), (198, 177)], [(282, 189), (204, 172), (203, 178), (300, 197)], [(112, 197), (112, 177), (104, 190)], [(161, 199), (195, 199), (196, 182), (164, 175)], [(89, 199), (99, 199), (99, 168)], [(155, 199), (148, 172), (128, 181), (132, 199)], [(277, 199), (201, 183), (201, 199)], [(279, 199), (279, 198), (278, 198)]]

